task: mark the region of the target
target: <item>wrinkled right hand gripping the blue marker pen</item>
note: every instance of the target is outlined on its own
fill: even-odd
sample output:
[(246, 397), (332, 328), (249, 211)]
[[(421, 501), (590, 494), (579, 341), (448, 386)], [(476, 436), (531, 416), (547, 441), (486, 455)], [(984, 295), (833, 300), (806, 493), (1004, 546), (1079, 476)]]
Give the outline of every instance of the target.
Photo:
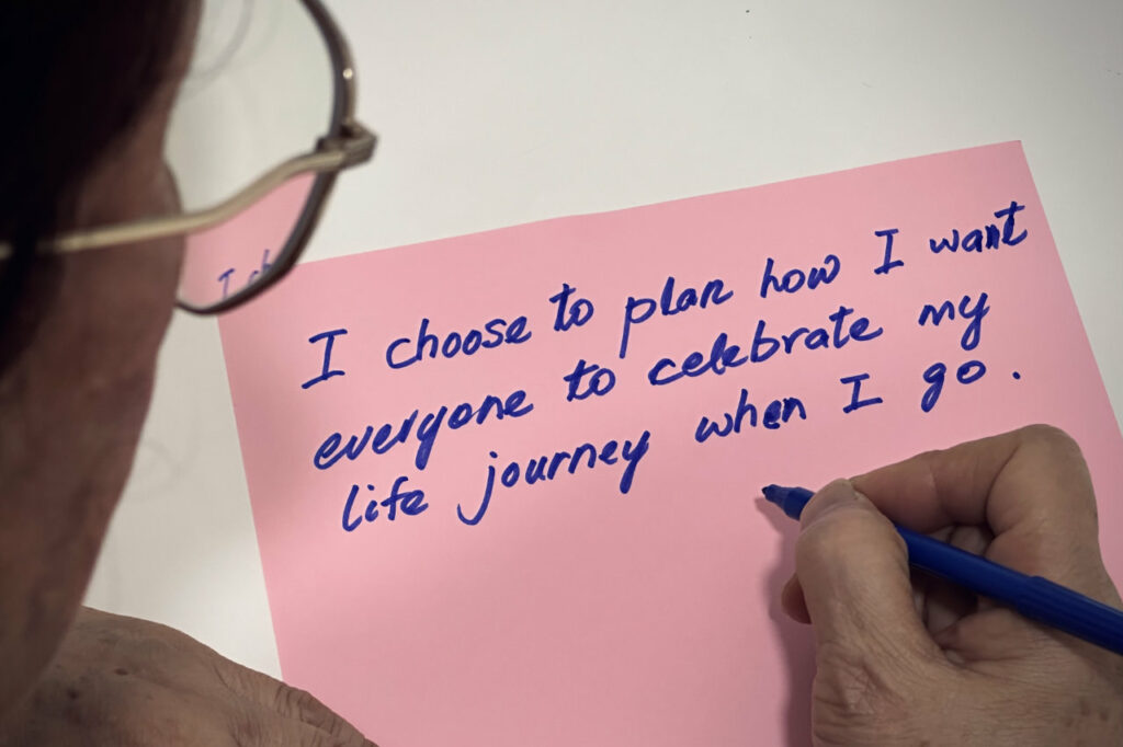
[(1087, 468), (1056, 428), (832, 482), (803, 511), (783, 592), (815, 629), (816, 745), (1123, 744), (1123, 657), (911, 579), (889, 519), (1120, 607)]

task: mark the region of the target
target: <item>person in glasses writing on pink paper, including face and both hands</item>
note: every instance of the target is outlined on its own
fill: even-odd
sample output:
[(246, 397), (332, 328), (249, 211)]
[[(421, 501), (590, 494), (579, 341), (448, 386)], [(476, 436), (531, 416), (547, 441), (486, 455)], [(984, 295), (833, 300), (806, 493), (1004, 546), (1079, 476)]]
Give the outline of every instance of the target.
[[(60, 253), (54, 238), (179, 212), (164, 139), (199, 10), (0, 6), (0, 745), (372, 744), (312, 695), (182, 634), (81, 607), (136, 449), (184, 239)], [(1054, 430), (832, 483), (804, 511), (783, 599), (815, 624), (819, 744), (1123, 739), (1117, 657), (947, 589), (917, 592), (914, 606), (882, 511), (1120, 605), (1087, 471)]]

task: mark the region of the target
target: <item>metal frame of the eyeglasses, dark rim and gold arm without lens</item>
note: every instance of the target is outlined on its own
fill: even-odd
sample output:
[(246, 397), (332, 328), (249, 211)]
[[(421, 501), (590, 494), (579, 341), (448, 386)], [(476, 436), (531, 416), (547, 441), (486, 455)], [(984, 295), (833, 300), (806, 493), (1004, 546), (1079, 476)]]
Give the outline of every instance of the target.
[[(279, 164), (210, 208), (74, 231), (47, 242), (45, 248), (70, 253), (193, 233), (235, 218), (294, 176), (316, 174), (304, 208), (284, 247), (257, 282), (214, 304), (198, 306), (176, 299), (176, 305), (193, 314), (218, 314), (245, 303), (284, 277), (308, 246), (338, 173), (371, 160), (377, 145), (377, 136), (355, 119), (356, 75), (347, 39), (321, 0), (301, 0), (301, 4), (323, 37), (332, 68), (331, 119), (327, 133), (317, 140), (313, 150)], [(9, 252), (10, 248), (0, 243), (0, 260)]]

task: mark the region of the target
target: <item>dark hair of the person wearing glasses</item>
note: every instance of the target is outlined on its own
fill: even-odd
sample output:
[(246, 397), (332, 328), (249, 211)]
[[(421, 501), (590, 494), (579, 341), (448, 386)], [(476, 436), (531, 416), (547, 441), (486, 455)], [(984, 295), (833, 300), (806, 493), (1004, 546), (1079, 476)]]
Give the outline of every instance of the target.
[(192, 0), (0, 1), (0, 371), (49, 303), (42, 239), (167, 74)]

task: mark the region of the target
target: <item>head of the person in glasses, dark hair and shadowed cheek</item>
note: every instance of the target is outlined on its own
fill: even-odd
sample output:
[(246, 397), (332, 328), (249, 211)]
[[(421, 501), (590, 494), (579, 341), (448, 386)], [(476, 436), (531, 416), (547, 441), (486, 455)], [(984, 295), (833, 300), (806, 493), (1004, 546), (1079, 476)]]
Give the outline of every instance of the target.
[(180, 241), (35, 255), (175, 208), (163, 140), (198, 0), (0, 4), (0, 706), (79, 603), (131, 463)]

